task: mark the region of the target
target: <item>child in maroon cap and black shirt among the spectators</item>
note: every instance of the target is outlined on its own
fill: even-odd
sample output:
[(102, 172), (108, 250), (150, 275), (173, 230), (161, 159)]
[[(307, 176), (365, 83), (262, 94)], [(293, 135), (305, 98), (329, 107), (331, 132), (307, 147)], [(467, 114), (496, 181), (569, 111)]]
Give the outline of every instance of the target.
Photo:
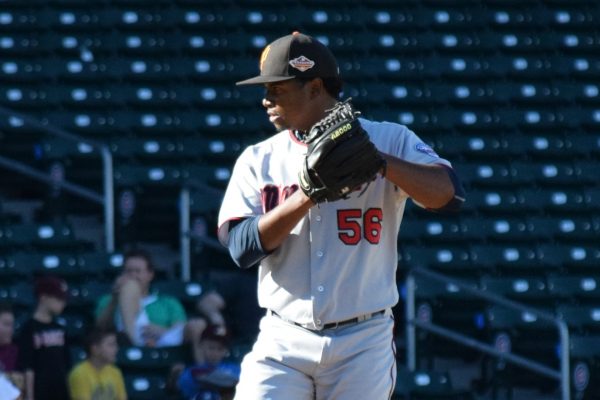
[(66, 329), (56, 321), (67, 304), (67, 283), (55, 276), (35, 282), (37, 304), (21, 329), (17, 367), (25, 373), (26, 400), (69, 399), (70, 353)]

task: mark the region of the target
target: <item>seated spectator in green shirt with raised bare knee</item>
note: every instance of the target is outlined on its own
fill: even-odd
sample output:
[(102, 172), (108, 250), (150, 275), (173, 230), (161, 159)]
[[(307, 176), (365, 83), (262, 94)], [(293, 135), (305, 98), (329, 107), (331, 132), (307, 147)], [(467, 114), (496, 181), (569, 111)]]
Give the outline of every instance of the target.
[(102, 296), (96, 308), (100, 328), (116, 328), (125, 344), (135, 346), (198, 346), (206, 327), (203, 319), (187, 320), (183, 305), (174, 297), (152, 293), (154, 266), (150, 255), (133, 250), (125, 255), (123, 274), (112, 293)]

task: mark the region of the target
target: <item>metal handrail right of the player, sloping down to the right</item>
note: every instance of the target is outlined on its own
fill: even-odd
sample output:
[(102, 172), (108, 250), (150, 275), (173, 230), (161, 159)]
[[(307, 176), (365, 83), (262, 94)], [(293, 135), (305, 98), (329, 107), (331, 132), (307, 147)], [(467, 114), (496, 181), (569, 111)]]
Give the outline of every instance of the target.
[[(532, 359), (519, 356), (517, 354), (512, 353), (503, 353), (496, 350), (494, 347), (488, 345), (487, 343), (478, 341), (477, 339), (473, 339), (461, 333), (452, 331), (450, 329), (444, 328), (442, 326), (430, 323), (418, 321), (416, 319), (416, 309), (415, 309), (415, 275), (421, 275), (426, 278), (429, 278), (434, 281), (443, 282), (446, 284), (455, 285), (456, 287), (464, 290), (465, 292), (481, 297), (485, 300), (488, 300), (492, 303), (500, 304), (507, 308), (512, 308), (514, 310), (518, 310), (521, 312), (531, 313), (539, 319), (548, 321), (556, 326), (559, 336), (560, 336), (560, 370), (555, 370), (549, 368), (548, 366), (538, 363)], [(561, 386), (561, 398), (563, 400), (570, 400), (571, 392), (570, 392), (570, 381), (569, 381), (569, 372), (570, 372), (570, 356), (569, 356), (569, 329), (565, 321), (555, 317), (552, 314), (547, 312), (538, 310), (536, 308), (528, 307), (523, 304), (517, 303), (512, 300), (508, 300), (504, 297), (498, 296), (493, 293), (485, 292), (479, 288), (473, 287), (471, 285), (465, 284), (458, 279), (450, 278), (448, 276), (439, 274), (437, 272), (425, 269), (425, 268), (413, 268), (409, 271), (406, 278), (406, 342), (407, 342), (407, 367), (411, 371), (416, 369), (416, 328), (421, 328), (430, 332), (433, 332), (437, 335), (446, 337), (455, 342), (461, 343), (465, 346), (475, 348), (479, 351), (489, 353), (493, 356), (500, 357), (508, 362), (513, 364), (520, 365), (524, 368), (537, 372), (539, 374), (548, 376), (560, 382)]]

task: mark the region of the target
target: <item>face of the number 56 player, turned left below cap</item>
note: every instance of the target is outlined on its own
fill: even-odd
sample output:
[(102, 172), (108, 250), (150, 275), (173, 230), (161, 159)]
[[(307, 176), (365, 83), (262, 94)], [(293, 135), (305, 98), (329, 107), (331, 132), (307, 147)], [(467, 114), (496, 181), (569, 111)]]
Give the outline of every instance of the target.
[(263, 106), (278, 131), (308, 130), (314, 123), (311, 85), (297, 80), (267, 83)]

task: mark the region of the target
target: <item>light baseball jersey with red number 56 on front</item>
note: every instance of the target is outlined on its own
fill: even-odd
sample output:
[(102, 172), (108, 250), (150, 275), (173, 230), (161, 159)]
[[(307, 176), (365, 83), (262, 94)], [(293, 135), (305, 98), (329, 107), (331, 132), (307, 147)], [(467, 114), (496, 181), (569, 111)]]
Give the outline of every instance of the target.
[[(360, 122), (384, 153), (450, 166), (403, 125)], [(306, 148), (285, 130), (244, 150), (219, 212), (223, 243), (229, 221), (264, 214), (300, 190), (298, 172)], [(359, 193), (312, 207), (282, 245), (261, 261), (261, 307), (321, 329), (397, 303), (397, 240), (408, 195), (381, 176)]]

